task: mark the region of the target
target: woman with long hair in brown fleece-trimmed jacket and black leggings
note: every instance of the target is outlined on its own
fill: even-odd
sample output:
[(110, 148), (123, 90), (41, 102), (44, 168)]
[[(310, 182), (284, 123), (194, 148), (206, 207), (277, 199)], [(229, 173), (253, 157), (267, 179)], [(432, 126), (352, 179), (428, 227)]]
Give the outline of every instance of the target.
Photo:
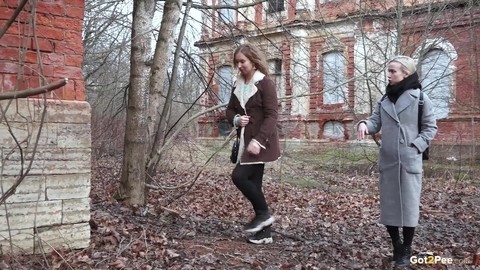
[(243, 44), (233, 56), (239, 75), (226, 116), (240, 133), (240, 150), (232, 180), (255, 211), (255, 218), (245, 226), (245, 231), (255, 233), (248, 241), (271, 243), (270, 226), (275, 219), (263, 195), (262, 181), (265, 162), (280, 157), (277, 91), (268, 77), (265, 57), (258, 48)]

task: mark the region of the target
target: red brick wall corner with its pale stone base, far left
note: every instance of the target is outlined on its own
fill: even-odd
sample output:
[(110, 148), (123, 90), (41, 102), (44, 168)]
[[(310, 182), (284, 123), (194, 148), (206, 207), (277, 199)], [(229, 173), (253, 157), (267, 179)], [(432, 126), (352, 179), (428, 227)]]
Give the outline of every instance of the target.
[[(0, 1), (0, 25), (19, 1)], [(32, 6), (32, 3), (35, 6)], [(90, 106), (82, 78), (84, 1), (29, 1), (0, 37), (0, 94), (68, 78), (53, 92), (0, 102), (3, 253), (84, 248), (90, 242)], [(22, 177), (22, 175), (26, 175)]]

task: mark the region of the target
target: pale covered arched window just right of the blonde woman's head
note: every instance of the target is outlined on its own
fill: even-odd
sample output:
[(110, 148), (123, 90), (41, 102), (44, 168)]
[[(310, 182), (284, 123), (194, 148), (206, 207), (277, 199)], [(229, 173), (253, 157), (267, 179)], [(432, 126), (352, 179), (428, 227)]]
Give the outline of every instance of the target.
[(453, 72), (451, 58), (441, 49), (433, 49), (425, 54), (420, 65), (422, 89), (433, 102), (437, 119), (448, 117)]

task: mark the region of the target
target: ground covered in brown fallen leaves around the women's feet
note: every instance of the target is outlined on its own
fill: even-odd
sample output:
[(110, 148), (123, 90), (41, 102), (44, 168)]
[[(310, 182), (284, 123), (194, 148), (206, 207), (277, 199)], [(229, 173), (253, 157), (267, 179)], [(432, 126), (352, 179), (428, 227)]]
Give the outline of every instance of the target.
[[(281, 166), (280, 166), (281, 165)], [(231, 164), (176, 166), (162, 172), (146, 209), (113, 199), (120, 161), (96, 162), (92, 236), (85, 250), (13, 257), (13, 269), (392, 269), (386, 230), (378, 224), (377, 175), (318, 170), (288, 158), (266, 167), (265, 194), (275, 217), (274, 243), (248, 244), (242, 228), (251, 206), (230, 180)], [(180, 169), (182, 168), (182, 169)], [(195, 180), (196, 179), (196, 180)], [(195, 180), (193, 185), (191, 182)], [(425, 179), (415, 254), (433, 252), (475, 269), (480, 248), (480, 189), (453, 179)], [(477, 266), (478, 267), (478, 266)], [(0, 269), (1, 265), (0, 265)]]

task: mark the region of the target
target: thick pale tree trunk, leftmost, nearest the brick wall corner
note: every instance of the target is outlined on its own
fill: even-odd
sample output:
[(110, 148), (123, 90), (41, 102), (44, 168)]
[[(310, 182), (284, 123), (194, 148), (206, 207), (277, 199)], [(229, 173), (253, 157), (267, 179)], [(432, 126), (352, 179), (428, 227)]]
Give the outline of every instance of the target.
[(145, 165), (147, 156), (146, 111), (148, 102), (152, 19), (155, 0), (133, 2), (130, 88), (122, 177), (118, 197), (134, 206), (145, 204)]

